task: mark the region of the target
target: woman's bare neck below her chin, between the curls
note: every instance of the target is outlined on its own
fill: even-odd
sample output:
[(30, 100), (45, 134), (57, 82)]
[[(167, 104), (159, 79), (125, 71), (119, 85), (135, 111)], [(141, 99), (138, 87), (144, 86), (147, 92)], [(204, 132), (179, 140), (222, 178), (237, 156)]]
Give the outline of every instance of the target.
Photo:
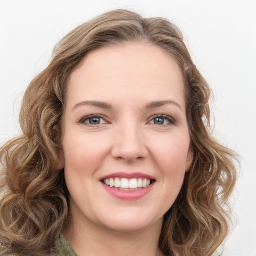
[(112, 230), (90, 221), (75, 223), (62, 231), (77, 256), (162, 256), (158, 248), (162, 219), (142, 230)]

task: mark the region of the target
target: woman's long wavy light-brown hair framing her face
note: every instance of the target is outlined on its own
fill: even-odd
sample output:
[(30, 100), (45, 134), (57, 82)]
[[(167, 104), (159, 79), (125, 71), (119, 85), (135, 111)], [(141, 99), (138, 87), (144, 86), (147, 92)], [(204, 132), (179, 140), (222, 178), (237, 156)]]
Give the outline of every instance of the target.
[(227, 236), (236, 154), (212, 136), (207, 82), (193, 63), (182, 33), (169, 20), (113, 10), (68, 33), (24, 94), (19, 116), (22, 135), (0, 149), (1, 255), (42, 256), (54, 251), (55, 239), (70, 217), (59, 160), (68, 78), (88, 52), (125, 42), (164, 49), (178, 63), (184, 79), (193, 162), (164, 215), (159, 248), (171, 256), (209, 256)]

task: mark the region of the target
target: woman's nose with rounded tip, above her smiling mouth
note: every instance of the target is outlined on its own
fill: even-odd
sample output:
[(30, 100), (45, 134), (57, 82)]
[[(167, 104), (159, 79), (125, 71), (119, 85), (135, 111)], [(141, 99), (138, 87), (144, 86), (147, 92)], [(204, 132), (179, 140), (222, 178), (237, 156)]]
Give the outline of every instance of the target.
[(123, 125), (115, 131), (112, 157), (126, 162), (142, 160), (148, 155), (142, 128), (136, 125)]

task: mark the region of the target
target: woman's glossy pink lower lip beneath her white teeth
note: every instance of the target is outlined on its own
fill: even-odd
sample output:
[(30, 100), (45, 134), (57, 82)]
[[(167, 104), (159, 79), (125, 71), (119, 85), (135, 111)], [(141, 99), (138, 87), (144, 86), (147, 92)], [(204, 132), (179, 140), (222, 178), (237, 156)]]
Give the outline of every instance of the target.
[(153, 189), (154, 183), (145, 188), (140, 188), (138, 190), (120, 190), (115, 187), (109, 187), (103, 183), (102, 185), (109, 194), (115, 196), (120, 200), (137, 200), (147, 195)]

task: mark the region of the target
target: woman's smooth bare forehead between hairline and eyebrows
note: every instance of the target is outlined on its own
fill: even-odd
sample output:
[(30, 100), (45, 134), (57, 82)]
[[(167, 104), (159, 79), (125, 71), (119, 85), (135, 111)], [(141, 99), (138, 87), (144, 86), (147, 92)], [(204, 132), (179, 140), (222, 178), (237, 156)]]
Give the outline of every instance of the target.
[(178, 64), (160, 47), (144, 42), (105, 46), (88, 53), (72, 72), (68, 86), (67, 104), (87, 99), (175, 99), (185, 108)]

